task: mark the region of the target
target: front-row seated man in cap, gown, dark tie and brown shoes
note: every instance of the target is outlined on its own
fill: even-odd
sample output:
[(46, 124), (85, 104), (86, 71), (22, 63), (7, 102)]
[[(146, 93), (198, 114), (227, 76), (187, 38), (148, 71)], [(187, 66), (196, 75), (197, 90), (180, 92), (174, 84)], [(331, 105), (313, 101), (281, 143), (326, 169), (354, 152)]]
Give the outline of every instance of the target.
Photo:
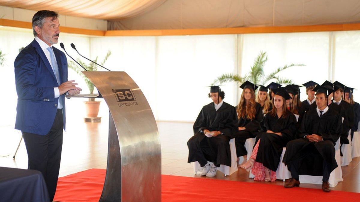
[(292, 179), (284, 187), (299, 186), (299, 175), (323, 176), (322, 188), (330, 192), (329, 176), (338, 166), (335, 143), (341, 133), (341, 116), (327, 106), (331, 89), (316, 86), (316, 109), (307, 111), (299, 131), (299, 139), (288, 142), (283, 162)]

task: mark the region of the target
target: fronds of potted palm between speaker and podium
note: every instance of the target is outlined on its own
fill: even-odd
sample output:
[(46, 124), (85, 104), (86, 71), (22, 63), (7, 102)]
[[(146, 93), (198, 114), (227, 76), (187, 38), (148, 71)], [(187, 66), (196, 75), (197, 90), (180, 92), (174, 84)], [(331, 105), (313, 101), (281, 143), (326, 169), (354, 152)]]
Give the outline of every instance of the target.
[[(109, 50), (107, 52), (107, 54), (105, 55), (104, 60), (100, 63), (100, 65), (104, 65), (105, 62), (108, 60), (109, 56), (111, 55), (111, 51)], [(98, 63), (98, 56), (96, 56), (95, 58), (95, 63), (89, 63), (89, 64), (85, 64), (84, 62), (82, 62), (79, 58), (76, 59), (76, 61), (81, 64), (85, 69), (87, 69), (88, 71), (97, 71), (100, 66), (96, 65), (95, 63)], [(74, 61), (69, 61), (68, 62), (68, 67), (71, 68), (72, 70), (74, 70), (77, 74), (79, 74), (82, 78), (84, 78), (84, 81), (87, 85), (87, 88), (89, 88), (90, 94), (94, 93), (94, 84), (93, 82), (90, 81), (89, 78), (87, 78), (85, 76), (85, 74), (83, 74), (81, 71), (83, 70), (80, 66), (78, 66)], [(94, 101), (95, 98), (89, 98), (89, 101)]]

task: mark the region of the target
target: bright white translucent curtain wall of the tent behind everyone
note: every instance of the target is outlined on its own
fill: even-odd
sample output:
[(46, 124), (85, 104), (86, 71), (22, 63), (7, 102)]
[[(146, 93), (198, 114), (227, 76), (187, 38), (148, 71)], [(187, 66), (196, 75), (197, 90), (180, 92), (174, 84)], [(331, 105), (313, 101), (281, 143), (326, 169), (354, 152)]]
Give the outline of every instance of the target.
[[(18, 49), (32, 40), (31, 30), (0, 27), (0, 49), (6, 54), (0, 74), (4, 96), (0, 126), (15, 122), (17, 95), (13, 62)], [(265, 74), (285, 64), (300, 63), (306, 66), (292, 67), (279, 75), (297, 84), (309, 80), (322, 83), (328, 79), (360, 89), (356, 78), (360, 31), (160, 37), (89, 37), (61, 33), (59, 42), (64, 43), (74, 58), (78, 55), (70, 43), (85, 56), (92, 59), (98, 56), (98, 61), (110, 50), (112, 54), (105, 66), (125, 71), (134, 79), (157, 120), (194, 121), (201, 107), (211, 102), (206, 86), (223, 73), (245, 75), (260, 51), (266, 51), (269, 58)], [(76, 80), (84, 93), (89, 92), (82, 78), (71, 69), (69, 80)], [(225, 102), (235, 106), (241, 93), (238, 86), (228, 83), (221, 88), (226, 94)], [(360, 91), (355, 91), (354, 98), (359, 102), (357, 93)], [(305, 89), (302, 89), (301, 99), (305, 98)], [(67, 101), (68, 120), (82, 119), (83, 101), (85, 99)], [(107, 119), (105, 104), (100, 106), (99, 116)]]

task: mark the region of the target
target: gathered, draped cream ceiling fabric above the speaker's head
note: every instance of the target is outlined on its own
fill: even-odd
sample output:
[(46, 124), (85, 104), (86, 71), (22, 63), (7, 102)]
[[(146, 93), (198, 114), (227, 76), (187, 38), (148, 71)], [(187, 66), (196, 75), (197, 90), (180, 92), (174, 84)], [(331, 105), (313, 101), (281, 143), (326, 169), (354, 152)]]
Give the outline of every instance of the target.
[(148, 12), (164, 1), (166, 0), (0, 0), (0, 5), (30, 10), (55, 10), (61, 15), (76, 17), (118, 20)]

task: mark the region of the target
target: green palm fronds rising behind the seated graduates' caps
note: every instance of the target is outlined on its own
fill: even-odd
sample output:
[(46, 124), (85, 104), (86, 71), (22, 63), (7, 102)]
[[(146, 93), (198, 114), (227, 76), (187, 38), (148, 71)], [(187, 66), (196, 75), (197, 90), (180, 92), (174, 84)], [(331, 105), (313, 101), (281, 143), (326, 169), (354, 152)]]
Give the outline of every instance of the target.
[(271, 79), (276, 79), (276, 83), (291, 84), (292, 83), (291, 79), (279, 77), (279, 75), (277, 74), (282, 70), (285, 70), (292, 66), (305, 66), (303, 64), (284, 65), (282, 67), (277, 68), (274, 72), (265, 75), (264, 66), (266, 61), (267, 61), (266, 52), (261, 51), (260, 54), (255, 59), (254, 64), (251, 66), (250, 72), (248, 72), (244, 77), (232, 73), (222, 74), (220, 77), (217, 77), (213, 81), (212, 86), (214, 84), (223, 84), (227, 82), (237, 82), (238, 84), (240, 84), (245, 81), (250, 81), (258, 85), (264, 85), (266, 82), (270, 81)]

